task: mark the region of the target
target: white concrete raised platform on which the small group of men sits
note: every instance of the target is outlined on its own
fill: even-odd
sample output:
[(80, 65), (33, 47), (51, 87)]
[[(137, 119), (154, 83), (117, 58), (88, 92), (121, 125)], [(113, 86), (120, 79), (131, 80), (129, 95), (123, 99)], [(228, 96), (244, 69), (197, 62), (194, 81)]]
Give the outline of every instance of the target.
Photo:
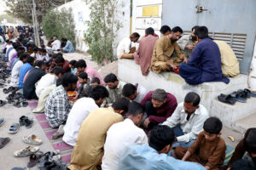
[(209, 111), (211, 116), (218, 116), (226, 126), (232, 127), (232, 123), (249, 116), (255, 112), (256, 99), (249, 99), (246, 104), (236, 102), (236, 105), (226, 105), (218, 101), (218, 94), (229, 94), (237, 89), (248, 88), (247, 75), (230, 78), (230, 83), (204, 82), (200, 85), (191, 86), (182, 77), (173, 72), (156, 74), (150, 71), (147, 77), (142, 75), (140, 66), (133, 59), (119, 59), (119, 79), (124, 82), (139, 83), (144, 88), (154, 90), (163, 88), (182, 102), (185, 95), (193, 91), (201, 96), (201, 104)]

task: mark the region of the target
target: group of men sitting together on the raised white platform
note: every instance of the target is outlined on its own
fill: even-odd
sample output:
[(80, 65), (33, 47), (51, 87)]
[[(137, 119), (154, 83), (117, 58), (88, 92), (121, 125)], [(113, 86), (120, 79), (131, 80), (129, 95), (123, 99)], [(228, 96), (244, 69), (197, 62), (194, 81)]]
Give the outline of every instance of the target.
[[(162, 26), (162, 37), (149, 27), (140, 40), (138, 48), (135, 43), (140, 35), (137, 32), (119, 42), (117, 56), (119, 59), (135, 59), (141, 66), (143, 76), (154, 71), (178, 71), (184, 80), (191, 84), (202, 82), (225, 82), (227, 77), (239, 75), (239, 62), (230, 45), (224, 41), (213, 40), (208, 35), (206, 26), (194, 26), (189, 35), (183, 35), (179, 27)], [(135, 46), (135, 47), (134, 47)]]

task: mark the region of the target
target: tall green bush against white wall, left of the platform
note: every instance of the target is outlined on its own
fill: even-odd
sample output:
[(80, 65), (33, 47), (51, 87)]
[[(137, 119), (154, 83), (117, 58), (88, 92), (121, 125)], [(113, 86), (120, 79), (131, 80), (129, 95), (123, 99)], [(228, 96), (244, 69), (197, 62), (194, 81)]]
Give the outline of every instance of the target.
[(88, 29), (84, 41), (89, 44), (87, 51), (98, 64), (104, 59), (113, 60), (113, 39), (122, 23), (116, 20), (118, 0), (85, 0), (90, 6), (90, 20), (86, 21)]

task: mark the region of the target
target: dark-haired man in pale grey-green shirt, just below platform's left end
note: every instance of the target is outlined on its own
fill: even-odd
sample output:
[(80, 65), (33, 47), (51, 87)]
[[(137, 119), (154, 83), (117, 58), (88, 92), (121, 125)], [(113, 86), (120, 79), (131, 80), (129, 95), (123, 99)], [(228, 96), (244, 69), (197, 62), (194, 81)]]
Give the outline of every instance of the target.
[[(109, 97), (106, 99), (106, 102), (108, 105), (112, 105), (117, 99), (121, 98), (125, 82), (119, 81), (113, 73), (108, 74), (104, 78), (104, 82), (106, 82), (109, 93)], [(106, 105), (105, 103), (104, 105)]]

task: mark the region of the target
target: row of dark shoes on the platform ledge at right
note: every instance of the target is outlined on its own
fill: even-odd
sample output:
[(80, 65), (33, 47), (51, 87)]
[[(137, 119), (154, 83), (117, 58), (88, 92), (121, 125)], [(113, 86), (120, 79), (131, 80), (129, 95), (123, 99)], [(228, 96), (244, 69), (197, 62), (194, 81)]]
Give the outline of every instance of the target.
[(245, 88), (244, 90), (239, 89), (231, 94), (220, 94), (218, 95), (218, 100), (226, 104), (235, 105), (236, 101), (246, 103), (247, 99), (251, 97), (256, 98), (256, 94)]

